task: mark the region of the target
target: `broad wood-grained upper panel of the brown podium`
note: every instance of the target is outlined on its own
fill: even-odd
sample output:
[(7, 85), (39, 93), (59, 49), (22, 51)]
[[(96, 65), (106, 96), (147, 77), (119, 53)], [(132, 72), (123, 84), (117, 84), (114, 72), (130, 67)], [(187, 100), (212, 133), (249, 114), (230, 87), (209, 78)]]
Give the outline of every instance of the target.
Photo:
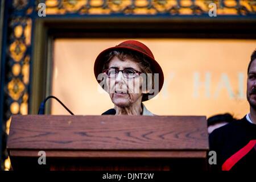
[(205, 117), (13, 115), (10, 149), (208, 150)]

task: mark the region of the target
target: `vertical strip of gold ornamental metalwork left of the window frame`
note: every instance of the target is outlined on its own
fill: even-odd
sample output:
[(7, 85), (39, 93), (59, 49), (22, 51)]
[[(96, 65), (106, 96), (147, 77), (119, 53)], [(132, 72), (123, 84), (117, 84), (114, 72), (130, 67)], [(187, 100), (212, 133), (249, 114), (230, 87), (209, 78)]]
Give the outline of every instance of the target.
[[(9, 134), (11, 114), (28, 113), (28, 84), (30, 74), (31, 31), (35, 18), (36, 1), (12, 0), (7, 3), (9, 30), (6, 56), (6, 78), (5, 78), (5, 114), (3, 122), (6, 122), (6, 135)], [(2, 141), (0, 141), (2, 142)], [(4, 144), (5, 142), (3, 142)], [(3, 145), (5, 146), (5, 145)], [(3, 151), (5, 158), (5, 170), (11, 167), (7, 151)]]

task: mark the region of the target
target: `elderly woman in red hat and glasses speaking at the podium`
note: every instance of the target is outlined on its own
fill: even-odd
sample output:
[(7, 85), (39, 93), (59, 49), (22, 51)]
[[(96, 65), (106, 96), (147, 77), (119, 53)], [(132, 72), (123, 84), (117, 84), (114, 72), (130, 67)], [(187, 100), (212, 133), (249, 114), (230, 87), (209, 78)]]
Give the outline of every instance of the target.
[(105, 49), (94, 63), (94, 75), (114, 104), (114, 109), (102, 115), (154, 115), (142, 102), (158, 94), (164, 76), (152, 52), (144, 44), (127, 40)]

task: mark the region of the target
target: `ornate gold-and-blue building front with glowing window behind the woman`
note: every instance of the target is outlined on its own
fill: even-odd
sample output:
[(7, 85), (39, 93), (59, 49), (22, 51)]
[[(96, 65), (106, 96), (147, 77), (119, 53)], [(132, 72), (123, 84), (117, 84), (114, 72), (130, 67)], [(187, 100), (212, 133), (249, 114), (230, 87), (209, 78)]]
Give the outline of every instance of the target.
[[(214, 14), (216, 13), (216, 14)], [(76, 115), (113, 107), (94, 78), (98, 53), (123, 40), (148, 46), (164, 86), (144, 104), (158, 115), (242, 118), (256, 48), (256, 0), (10, 0), (0, 10), (1, 170), (12, 114), (37, 114), (56, 96)], [(48, 101), (47, 114), (69, 114)]]

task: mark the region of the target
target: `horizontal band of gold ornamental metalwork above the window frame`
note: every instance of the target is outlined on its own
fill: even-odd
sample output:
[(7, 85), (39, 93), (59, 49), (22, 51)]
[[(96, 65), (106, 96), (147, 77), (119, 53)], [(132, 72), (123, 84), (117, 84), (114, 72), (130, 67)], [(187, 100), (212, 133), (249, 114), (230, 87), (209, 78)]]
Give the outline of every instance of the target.
[(208, 14), (216, 3), (218, 15), (255, 14), (255, 0), (46, 0), (46, 14)]

